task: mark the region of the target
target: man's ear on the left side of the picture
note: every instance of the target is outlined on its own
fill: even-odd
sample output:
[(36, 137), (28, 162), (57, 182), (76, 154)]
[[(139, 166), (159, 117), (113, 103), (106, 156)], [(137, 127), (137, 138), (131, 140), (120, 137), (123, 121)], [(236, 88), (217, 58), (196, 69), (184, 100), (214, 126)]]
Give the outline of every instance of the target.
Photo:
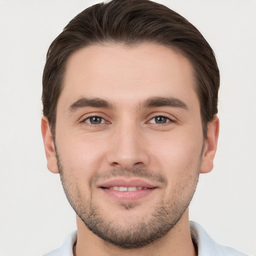
[(57, 159), (55, 153), (55, 146), (51, 135), (51, 130), (47, 117), (43, 116), (41, 119), (41, 132), (44, 144), (45, 155), (47, 159), (47, 168), (53, 173), (58, 173)]

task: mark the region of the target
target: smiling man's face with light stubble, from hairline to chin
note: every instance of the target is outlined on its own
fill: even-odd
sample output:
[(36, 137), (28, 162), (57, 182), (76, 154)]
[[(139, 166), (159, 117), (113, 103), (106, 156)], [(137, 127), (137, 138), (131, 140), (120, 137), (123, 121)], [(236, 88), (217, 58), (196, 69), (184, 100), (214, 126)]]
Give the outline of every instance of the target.
[(58, 163), (49, 142), (48, 168), (59, 171), (70, 204), (99, 237), (140, 247), (181, 218), (206, 164), (194, 86), (190, 62), (153, 43), (93, 45), (68, 59), (56, 110)]

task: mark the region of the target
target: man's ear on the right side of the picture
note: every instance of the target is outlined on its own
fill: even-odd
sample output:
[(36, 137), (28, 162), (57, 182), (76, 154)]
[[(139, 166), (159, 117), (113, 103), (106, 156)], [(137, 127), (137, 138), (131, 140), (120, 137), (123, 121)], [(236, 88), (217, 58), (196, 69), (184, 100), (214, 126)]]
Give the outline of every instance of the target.
[(213, 168), (213, 158), (217, 149), (219, 119), (215, 115), (208, 124), (207, 138), (204, 142), (200, 173), (207, 173)]

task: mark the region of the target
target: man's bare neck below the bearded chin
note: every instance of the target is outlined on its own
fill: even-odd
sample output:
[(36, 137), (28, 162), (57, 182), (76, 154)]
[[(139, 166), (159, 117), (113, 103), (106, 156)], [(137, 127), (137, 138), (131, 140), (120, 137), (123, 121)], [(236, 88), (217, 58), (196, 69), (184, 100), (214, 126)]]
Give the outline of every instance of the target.
[(165, 236), (141, 248), (123, 249), (109, 244), (92, 233), (78, 216), (76, 216), (76, 223), (77, 242), (73, 248), (74, 256), (196, 256), (196, 250), (190, 235), (188, 209)]

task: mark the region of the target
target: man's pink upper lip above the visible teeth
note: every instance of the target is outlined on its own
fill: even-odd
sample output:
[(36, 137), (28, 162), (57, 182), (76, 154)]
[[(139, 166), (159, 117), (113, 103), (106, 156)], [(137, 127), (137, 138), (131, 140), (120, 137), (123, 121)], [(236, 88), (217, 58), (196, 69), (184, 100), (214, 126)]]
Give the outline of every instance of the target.
[(138, 179), (138, 178), (135, 178), (135, 179), (114, 178), (98, 184), (98, 187), (113, 187), (113, 186), (124, 186), (124, 187), (142, 186), (147, 188), (157, 187), (156, 185), (150, 184), (147, 181)]

